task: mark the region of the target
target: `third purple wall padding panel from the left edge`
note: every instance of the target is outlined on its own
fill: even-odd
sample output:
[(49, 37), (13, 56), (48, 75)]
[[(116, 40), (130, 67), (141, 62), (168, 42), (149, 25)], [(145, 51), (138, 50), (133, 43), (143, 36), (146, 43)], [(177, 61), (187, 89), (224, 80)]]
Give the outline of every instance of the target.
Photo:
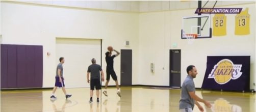
[(18, 45), (17, 47), (17, 87), (25, 88), (27, 87), (26, 81), (26, 55), (25, 55), (26, 47), (25, 45)]

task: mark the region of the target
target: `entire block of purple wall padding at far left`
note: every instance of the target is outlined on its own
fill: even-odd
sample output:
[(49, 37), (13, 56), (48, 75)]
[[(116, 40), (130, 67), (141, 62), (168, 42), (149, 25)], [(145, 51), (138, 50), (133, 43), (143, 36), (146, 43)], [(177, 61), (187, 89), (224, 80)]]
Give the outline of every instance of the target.
[(43, 47), (1, 44), (1, 88), (42, 88)]

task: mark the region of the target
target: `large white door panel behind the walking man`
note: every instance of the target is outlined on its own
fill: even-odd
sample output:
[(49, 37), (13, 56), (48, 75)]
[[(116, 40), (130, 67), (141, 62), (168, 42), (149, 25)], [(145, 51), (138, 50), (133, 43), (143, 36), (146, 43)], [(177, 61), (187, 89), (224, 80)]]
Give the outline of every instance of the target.
[(56, 38), (56, 66), (59, 58), (64, 57), (63, 76), (66, 88), (90, 87), (87, 82), (87, 68), (95, 58), (100, 65), (100, 40)]

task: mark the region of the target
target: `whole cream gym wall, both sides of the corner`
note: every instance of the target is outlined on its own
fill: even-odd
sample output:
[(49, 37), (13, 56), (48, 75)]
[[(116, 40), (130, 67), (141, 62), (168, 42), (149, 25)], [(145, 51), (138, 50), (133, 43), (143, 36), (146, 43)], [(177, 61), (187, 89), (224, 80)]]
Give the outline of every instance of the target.
[[(196, 88), (201, 87), (207, 55), (251, 55), (250, 89), (255, 89), (255, 2), (218, 2), (221, 7), (249, 8), (250, 35), (235, 36), (235, 14), (226, 14), (226, 36), (198, 39), (196, 45), (188, 46), (187, 40), (181, 40), (181, 27), (183, 16), (194, 15), (196, 3), (190, 2), (170, 1), (167, 7), (145, 1), (140, 2), (141, 13), (131, 13), (1, 1), (2, 43), (43, 45), (44, 88), (54, 85), (56, 37), (70, 37), (103, 39), (104, 70), (104, 48), (112, 45), (117, 50), (132, 49), (133, 85), (169, 86), (169, 49), (182, 50), (182, 81), (188, 65), (198, 68)], [(125, 41), (131, 45), (124, 46)], [(172, 43), (177, 43), (177, 47), (172, 47)], [(46, 52), (51, 53), (49, 57)], [(150, 73), (150, 63), (155, 64), (155, 74)], [(120, 57), (115, 59), (114, 68), (120, 80)]]

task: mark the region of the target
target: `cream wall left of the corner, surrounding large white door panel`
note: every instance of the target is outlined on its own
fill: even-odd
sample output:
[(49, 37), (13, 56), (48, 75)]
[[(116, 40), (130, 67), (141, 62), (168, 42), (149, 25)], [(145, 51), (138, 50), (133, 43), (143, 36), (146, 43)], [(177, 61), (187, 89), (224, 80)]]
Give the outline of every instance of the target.
[[(56, 37), (103, 39), (102, 67), (105, 74), (105, 52), (109, 45), (119, 51), (133, 49), (133, 85), (138, 84), (138, 13), (1, 1), (1, 33), (3, 44), (43, 45), (43, 88), (52, 88), (55, 83), (58, 62)], [(125, 41), (130, 41), (130, 46), (125, 46)], [(47, 52), (50, 52), (49, 56)], [(64, 67), (69, 59), (66, 61)], [(120, 56), (114, 62), (120, 80)], [(76, 66), (85, 65), (81, 63)], [(66, 70), (64, 68), (64, 75), (68, 75)], [(86, 83), (86, 79), (83, 83)], [(109, 85), (115, 85), (115, 82), (110, 80)], [(70, 87), (68, 82), (66, 86)]]

